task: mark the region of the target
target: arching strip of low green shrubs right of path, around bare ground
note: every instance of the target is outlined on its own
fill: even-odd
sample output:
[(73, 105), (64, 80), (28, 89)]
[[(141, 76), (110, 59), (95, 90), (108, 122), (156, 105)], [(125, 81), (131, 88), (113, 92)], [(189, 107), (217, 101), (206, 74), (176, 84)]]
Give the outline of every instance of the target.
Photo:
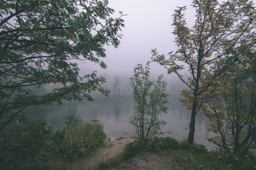
[[(125, 145), (122, 153), (111, 159), (101, 162), (96, 169), (112, 169), (117, 165), (122, 165), (123, 160), (127, 160), (140, 152), (158, 152), (159, 150), (175, 149), (178, 153), (193, 154), (197, 160), (195, 164), (184, 165), (184, 169), (255, 169), (256, 158), (253, 154), (239, 154), (219, 149), (207, 152), (204, 145), (189, 144), (187, 140), (179, 142), (174, 138), (152, 138), (150, 140), (134, 141)], [(182, 149), (182, 150), (180, 150)], [(172, 150), (167, 150), (172, 152)], [(176, 153), (177, 153), (176, 152)], [(164, 152), (166, 153), (166, 152)], [(180, 159), (184, 159), (184, 155), (180, 155)], [(179, 164), (181, 165), (181, 164)], [(214, 166), (213, 166), (214, 165)], [(183, 166), (183, 165), (182, 165)]]

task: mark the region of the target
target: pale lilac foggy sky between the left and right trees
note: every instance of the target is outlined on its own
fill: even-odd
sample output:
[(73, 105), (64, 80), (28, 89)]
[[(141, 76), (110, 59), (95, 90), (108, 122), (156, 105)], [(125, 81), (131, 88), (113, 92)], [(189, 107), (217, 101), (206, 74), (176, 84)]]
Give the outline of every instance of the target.
[[(256, 0), (253, 0), (255, 3)], [(175, 36), (172, 34), (172, 14), (177, 6), (187, 6), (185, 18), (191, 27), (195, 21), (195, 9), (190, 5), (192, 0), (109, 0), (109, 7), (116, 12), (114, 17), (119, 17), (118, 11), (123, 11), (125, 27), (121, 34), (120, 46), (116, 49), (106, 46), (107, 57), (103, 61), (107, 69), (103, 70), (93, 63), (83, 64), (81, 71), (86, 74), (97, 70), (99, 74), (115, 75), (125, 74), (130, 76), (133, 67), (142, 63), (145, 64), (151, 57), (151, 49), (157, 48), (159, 54), (167, 54), (175, 51)], [(151, 73), (165, 74), (170, 79), (176, 75), (167, 75), (167, 70), (158, 63), (152, 63)]]

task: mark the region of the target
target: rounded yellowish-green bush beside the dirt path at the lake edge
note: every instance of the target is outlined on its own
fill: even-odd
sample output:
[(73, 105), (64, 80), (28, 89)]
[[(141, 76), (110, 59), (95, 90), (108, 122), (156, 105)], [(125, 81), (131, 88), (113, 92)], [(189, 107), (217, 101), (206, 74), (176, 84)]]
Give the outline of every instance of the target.
[(99, 147), (106, 138), (101, 122), (84, 122), (74, 112), (65, 116), (63, 129), (52, 135), (57, 157), (74, 160)]

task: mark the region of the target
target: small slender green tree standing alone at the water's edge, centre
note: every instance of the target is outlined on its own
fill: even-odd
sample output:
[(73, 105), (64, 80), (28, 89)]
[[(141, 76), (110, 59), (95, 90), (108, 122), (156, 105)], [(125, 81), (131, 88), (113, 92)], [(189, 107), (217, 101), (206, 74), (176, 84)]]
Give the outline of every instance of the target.
[(138, 64), (134, 67), (133, 76), (130, 78), (135, 101), (135, 113), (130, 117), (130, 123), (135, 126), (139, 140), (162, 134), (161, 126), (166, 124), (158, 118), (158, 115), (160, 112), (167, 113), (168, 110), (167, 82), (163, 80), (163, 74), (156, 82), (151, 81), (149, 71), (149, 61), (145, 68), (142, 64)]

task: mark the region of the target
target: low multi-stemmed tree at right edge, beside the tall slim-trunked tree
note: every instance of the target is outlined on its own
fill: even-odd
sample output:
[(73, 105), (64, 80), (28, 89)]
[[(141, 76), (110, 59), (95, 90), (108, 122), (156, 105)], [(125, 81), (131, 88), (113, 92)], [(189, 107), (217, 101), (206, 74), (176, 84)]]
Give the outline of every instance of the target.
[[(231, 139), (234, 152), (248, 151), (255, 138), (256, 128), (256, 62), (255, 53), (247, 53), (244, 61), (224, 72), (222, 79), (203, 95), (208, 100), (201, 112), (218, 125), (222, 147), (228, 149)], [(227, 137), (227, 132), (232, 137)]]

